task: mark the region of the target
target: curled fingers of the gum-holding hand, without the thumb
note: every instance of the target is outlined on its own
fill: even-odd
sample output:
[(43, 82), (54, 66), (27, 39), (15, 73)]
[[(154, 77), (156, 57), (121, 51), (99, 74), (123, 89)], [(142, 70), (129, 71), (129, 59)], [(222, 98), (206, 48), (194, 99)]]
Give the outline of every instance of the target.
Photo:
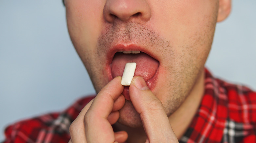
[(112, 124), (117, 122), (125, 98), (121, 95), (121, 77), (110, 81), (89, 102), (70, 125), (69, 143), (116, 143), (124, 142), (128, 135), (124, 131), (114, 133)]

